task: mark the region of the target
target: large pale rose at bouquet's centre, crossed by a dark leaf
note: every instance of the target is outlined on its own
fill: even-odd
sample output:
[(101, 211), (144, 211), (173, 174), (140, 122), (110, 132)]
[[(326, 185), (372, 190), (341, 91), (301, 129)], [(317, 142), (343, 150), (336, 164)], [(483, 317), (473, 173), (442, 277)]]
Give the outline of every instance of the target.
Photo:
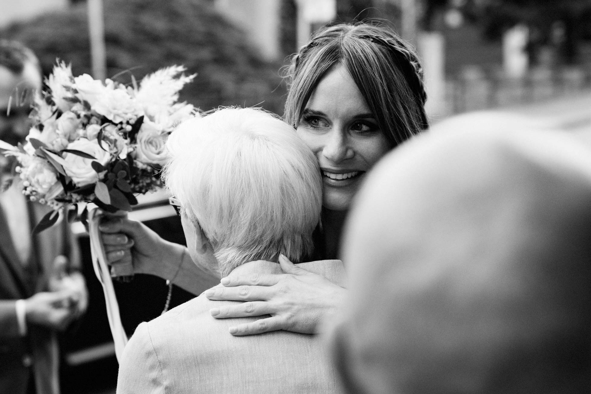
[[(103, 146), (106, 147), (108, 144), (103, 141)], [(77, 141), (70, 142), (67, 149), (82, 151), (95, 158), (87, 159), (72, 153), (66, 153), (64, 155), (64, 171), (66, 171), (66, 174), (72, 178), (72, 181), (78, 187), (96, 183), (99, 180), (99, 174), (93, 170), (90, 163), (96, 160), (100, 164), (106, 165), (109, 159), (111, 159), (111, 154), (101, 148), (96, 139), (89, 141), (86, 138), (80, 138)]]

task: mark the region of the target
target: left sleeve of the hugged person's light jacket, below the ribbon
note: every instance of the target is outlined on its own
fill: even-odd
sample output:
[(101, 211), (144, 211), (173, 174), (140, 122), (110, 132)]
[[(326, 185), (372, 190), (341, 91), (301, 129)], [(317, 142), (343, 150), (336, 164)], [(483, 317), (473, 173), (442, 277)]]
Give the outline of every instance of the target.
[(135, 329), (121, 362), (117, 377), (117, 394), (164, 394), (163, 372), (152, 346), (148, 323)]

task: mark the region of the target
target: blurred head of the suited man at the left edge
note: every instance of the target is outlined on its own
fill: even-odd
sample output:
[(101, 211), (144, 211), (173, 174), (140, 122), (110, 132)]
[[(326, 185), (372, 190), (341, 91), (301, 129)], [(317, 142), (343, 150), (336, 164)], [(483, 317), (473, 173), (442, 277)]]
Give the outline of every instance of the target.
[(34, 95), (41, 88), (41, 70), (29, 48), (0, 40), (0, 139), (16, 145), (31, 126)]

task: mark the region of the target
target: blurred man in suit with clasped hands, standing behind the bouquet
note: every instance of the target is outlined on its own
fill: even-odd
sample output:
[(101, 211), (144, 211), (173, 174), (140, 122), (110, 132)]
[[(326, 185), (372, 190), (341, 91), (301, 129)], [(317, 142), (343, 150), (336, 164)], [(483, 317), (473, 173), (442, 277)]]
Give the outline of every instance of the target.
[[(17, 145), (41, 87), (37, 58), (0, 40), (0, 139)], [(12, 158), (11, 158), (12, 159)], [(0, 154), (2, 184), (12, 163)], [(85, 310), (79, 251), (66, 222), (31, 236), (50, 207), (31, 203), (18, 180), (0, 191), (0, 393), (59, 393), (56, 331)]]

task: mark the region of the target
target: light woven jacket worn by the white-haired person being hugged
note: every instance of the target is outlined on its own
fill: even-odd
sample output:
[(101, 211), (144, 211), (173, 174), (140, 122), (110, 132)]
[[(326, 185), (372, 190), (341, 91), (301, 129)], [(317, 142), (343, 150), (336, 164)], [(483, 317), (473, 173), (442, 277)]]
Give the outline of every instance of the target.
[[(298, 266), (337, 285), (345, 279), (339, 260)], [(282, 273), (278, 263), (268, 261), (249, 262), (236, 271), (242, 275)], [(211, 308), (239, 303), (210, 301), (201, 294), (138, 325), (119, 365), (117, 393), (339, 392), (335, 371), (318, 336), (272, 331), (234, 337), (228, 332), (230, 326), (261, 317), (218, 320), (209, 313)]]

